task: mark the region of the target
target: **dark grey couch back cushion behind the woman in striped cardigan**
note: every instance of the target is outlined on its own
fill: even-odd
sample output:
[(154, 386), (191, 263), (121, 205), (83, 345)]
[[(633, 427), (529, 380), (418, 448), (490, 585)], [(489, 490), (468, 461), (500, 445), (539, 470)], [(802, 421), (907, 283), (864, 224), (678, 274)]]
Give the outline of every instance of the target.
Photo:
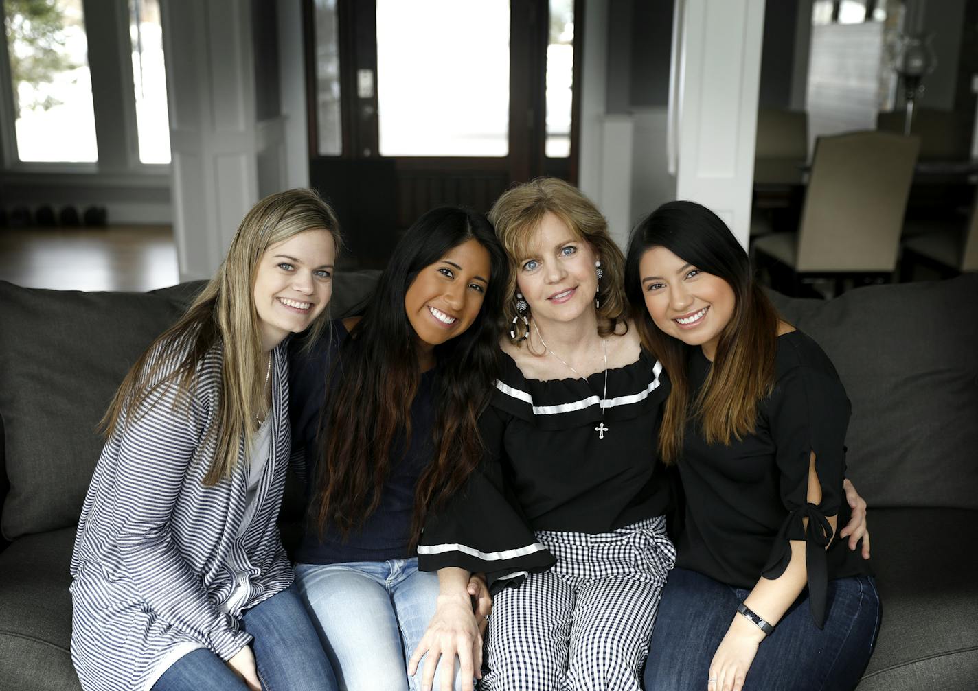
[[(377, 275), (337, 274), (333, 314), (346, 314), (360, 303)], [(96, 424), (128, 368), (177, 319), (200, 285), (86, 293), (0, 281), (7, 539), (77, 522), (102, 450)]]

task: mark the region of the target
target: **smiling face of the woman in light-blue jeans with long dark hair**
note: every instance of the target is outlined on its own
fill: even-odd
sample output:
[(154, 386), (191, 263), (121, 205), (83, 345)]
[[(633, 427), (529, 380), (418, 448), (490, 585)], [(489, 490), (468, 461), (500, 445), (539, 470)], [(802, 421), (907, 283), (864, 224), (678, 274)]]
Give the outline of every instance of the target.
[(469, 239), (424, 267), (404, 295), (404, 311), (422, 344), (436, 346), (475, 321), (489, 287), (489, 252)]

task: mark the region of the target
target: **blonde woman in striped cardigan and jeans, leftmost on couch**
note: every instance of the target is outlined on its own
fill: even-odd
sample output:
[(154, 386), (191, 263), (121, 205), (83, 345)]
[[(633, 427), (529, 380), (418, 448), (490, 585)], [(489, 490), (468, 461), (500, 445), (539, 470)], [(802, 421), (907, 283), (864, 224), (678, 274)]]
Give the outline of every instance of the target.
[(338, 244), (317, 194), (265, 197), (116, 392), (71, 557), (86, 691), (335, 688), (276, 519), (284, 341), (325, 324)]

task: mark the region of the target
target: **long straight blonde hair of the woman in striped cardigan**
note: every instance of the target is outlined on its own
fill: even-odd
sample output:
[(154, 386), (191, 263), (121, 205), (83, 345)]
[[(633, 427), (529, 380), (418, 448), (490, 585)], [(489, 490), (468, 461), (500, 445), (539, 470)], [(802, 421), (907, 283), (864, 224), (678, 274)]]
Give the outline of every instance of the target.
[[(272, 244), (312, 230), (326, 230), (340, 246), (339, 224), (330, 205), (312, 190), (269, 194), (251, 207), (220, 268), (188, 308), (136, 361), (100, 422), (106, 437), (124, 424), (158, 390), (175, 386), (174, 407), (189, 410), (200, 363), (215, 345), (223, 349), (221, 394), (206, 434), (217, 449), (203, 479), (216, 485), (238, 464), (241, 440), (249, 449), (255, 413), (263, 407), (265, 357), (253, 287), (258, 264)], [(328, 310), (312, 324), (313, 336), (327, 323)], [(126, 412), (128, 411), (128, 412)], [(175, 410), (176, 411), (176, 410)]]

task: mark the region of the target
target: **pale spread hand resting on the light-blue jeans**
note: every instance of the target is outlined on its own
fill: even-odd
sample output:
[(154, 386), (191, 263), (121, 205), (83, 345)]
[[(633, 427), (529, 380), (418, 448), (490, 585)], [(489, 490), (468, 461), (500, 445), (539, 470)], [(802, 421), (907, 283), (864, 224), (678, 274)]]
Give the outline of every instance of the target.
[[(488, 594), (488, 593), (487, 593)], [(438, 607), (424, 632), (421, 643), (408, 661), (408, 675), (414, 676), (424, 657), (422, 691), (431, 691), (438, 660), (445, 659), (440, 691), (452, 691), (455, 656), (459, 656), (461, 679), (482, 676), (482, 633), (472, 612), (471, 595), (460, 593), (438, 595)], [(426, 656), (426, 657), (425, 657)]]

